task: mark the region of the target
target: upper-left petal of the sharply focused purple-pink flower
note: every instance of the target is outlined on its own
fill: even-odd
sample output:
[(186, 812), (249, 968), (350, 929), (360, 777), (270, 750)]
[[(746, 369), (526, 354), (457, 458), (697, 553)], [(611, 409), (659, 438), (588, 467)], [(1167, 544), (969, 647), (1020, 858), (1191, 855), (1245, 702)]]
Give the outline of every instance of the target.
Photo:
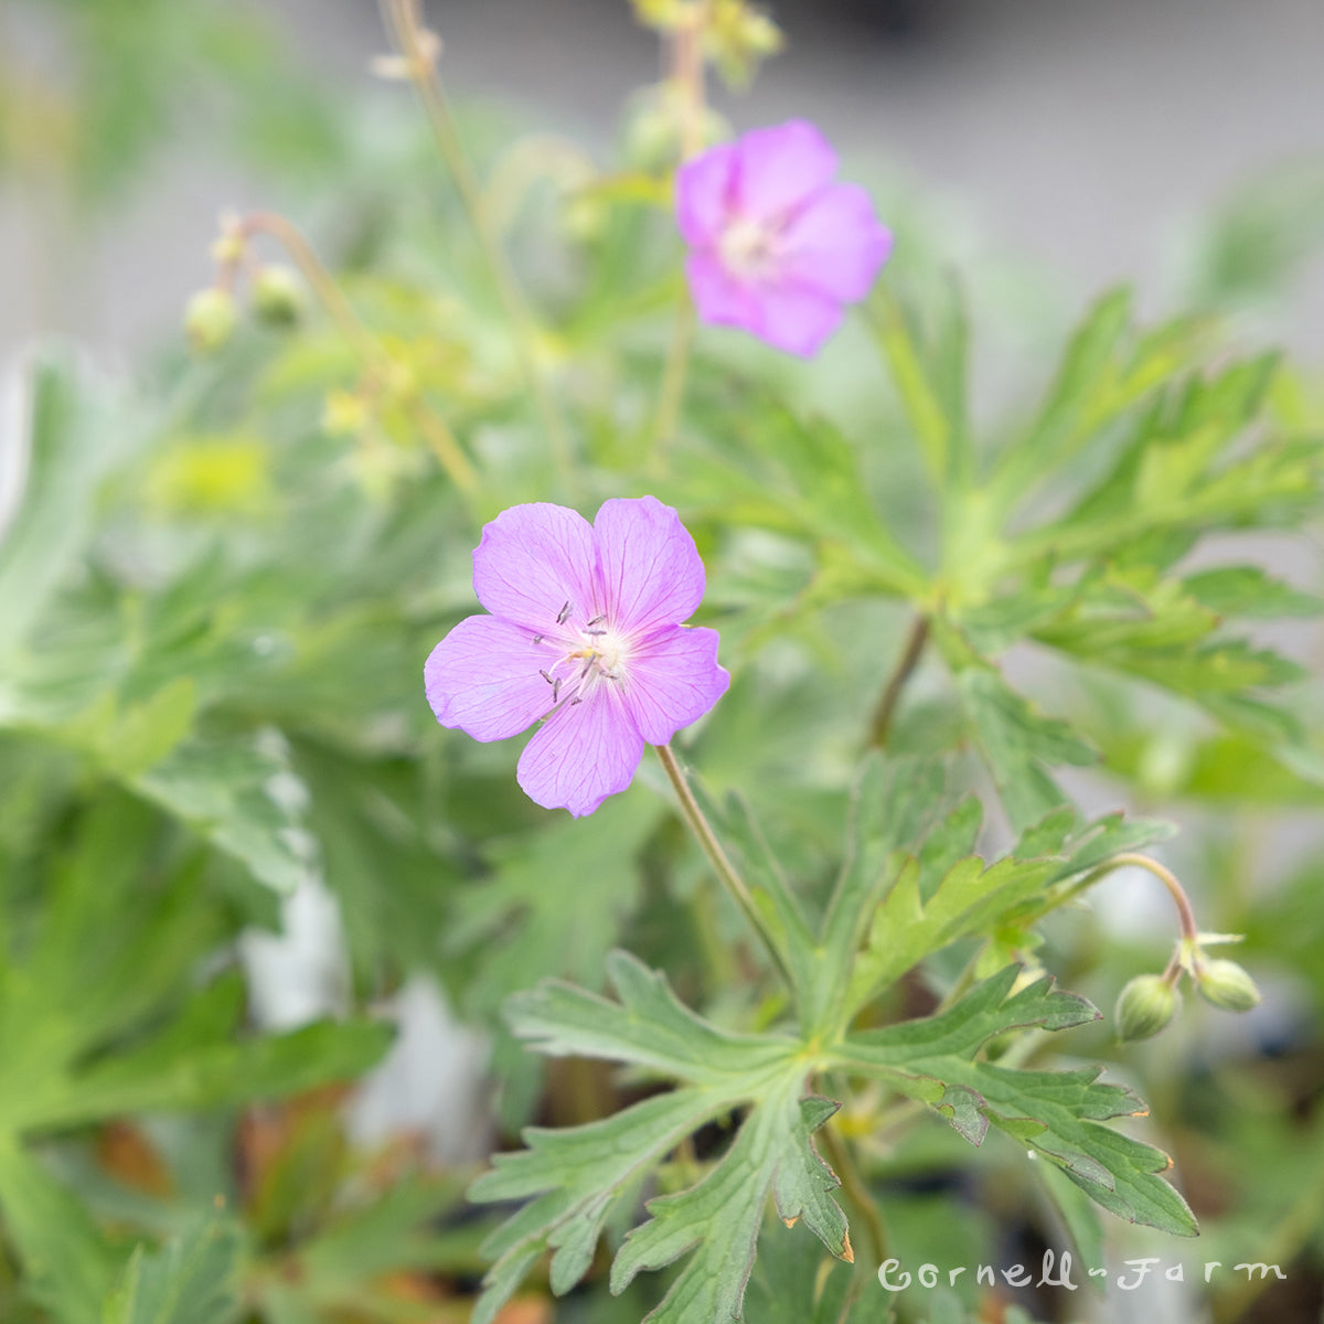
[[(503, 510), (474, 551), (474, 592), (493, 616), (539, 634), (556, 629), (568, 602), (580, 622), (593, 601), (593, 530), (565, 506), (531, 502)], [(536, 670), (535, 670), (536, 675)]]

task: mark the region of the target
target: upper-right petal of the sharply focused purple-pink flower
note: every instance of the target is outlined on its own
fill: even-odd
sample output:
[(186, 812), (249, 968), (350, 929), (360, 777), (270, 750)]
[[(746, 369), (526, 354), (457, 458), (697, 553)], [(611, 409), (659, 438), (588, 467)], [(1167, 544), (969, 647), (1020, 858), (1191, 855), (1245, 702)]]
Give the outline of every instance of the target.
[(703, 561), (694, 539), (655, 496), (602, 502), (593, 542), (602, 610), (616, 630), (633, 636), (677, 625), (703, 600)]

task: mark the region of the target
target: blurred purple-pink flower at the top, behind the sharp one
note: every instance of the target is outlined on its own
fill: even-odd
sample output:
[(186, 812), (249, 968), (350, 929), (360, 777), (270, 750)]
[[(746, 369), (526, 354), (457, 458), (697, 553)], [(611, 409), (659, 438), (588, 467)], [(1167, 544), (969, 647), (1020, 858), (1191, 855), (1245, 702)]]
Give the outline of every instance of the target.
[(858, 184), (802, 119), (714, 147), (677, 175), (686, 275), (703, 322), (743, 327), (804, 359), (841, 326), (892, 249)]

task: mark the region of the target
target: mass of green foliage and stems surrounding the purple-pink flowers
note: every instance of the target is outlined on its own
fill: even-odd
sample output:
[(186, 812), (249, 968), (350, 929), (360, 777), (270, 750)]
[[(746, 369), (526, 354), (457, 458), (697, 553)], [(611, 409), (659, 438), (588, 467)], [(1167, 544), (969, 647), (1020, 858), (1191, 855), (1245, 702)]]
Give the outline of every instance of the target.
[[(1027, 1235), (1070, 1237), (1084, 1260), (1104, 1237), (1139, 1245), (1054, 1156), (1113, 1213), (1189, 1229), (1162, 1160), (1098, 1124), (1136, 1111), (1116, 1087), (1076, 1066), (1049, 1129), (1023, 1124), (1062, 1053), (1117, 1057), (1111, 1025), (1084, 1030), (1088, 1005), (1035, 976), (1110, 1008), (1177, 933), (1132, 949), (1058, 914), (1160, 835), (1091, 824), (1061, 769), (1102, 756), (1128, 809), (1319, 804), (1317, 700), (1262, 624), (1316, 601), (1237, 542), (1317, 522), (1312, 387), (1210, 316), (1141, 327), (1119, 291), (1038, 402), (974, 417), (960, 291), (903, 203), (887, 220), (910, 258), (850, 330), (842, 354), (870, 367), (831, 409), (771, 351), (696, 335), (667, 169), (707, 132), (696, 58), (730, 64), (731, 40), (759, 53), (688, 26), (698, 15), (643, 15), (677, 57), (649, 103), (657, 146), (608, 167), (543, 158), (560, 163), (528, 179), (543, 205), (500, 213), (511, 156), (457, 155), (399, 9), (395, 71), (420, 82), (454, 199), (438, 205), (426, 143), (388, 169), (344, 143), (339, 286), (287, 221), (221, 237), (222, 273), (293, 249), (322, 298), (293, 336), (245, 323), (216, 356), (168, 355), (134, 385), (60, 350), (28, 369), (24, 494), (0, 547), (7, 1317), (465, 1317), (493, 1226), (461, 1214), (466, 1174), (406, 1145), (360, 1152), (327, 1088), (385, 1049), (354, 1009), (417, 970), (496, 1035), (503, 1127), (591, 1128), (481, 1178), (478, 1197), (575, 1197), (494, 1234), (504, 1259), (481, 1309), (531, 1271), (515, 1308), (545, 1312), (544, 1274), (557, 1291), (587, 1274), (565, 1317), (639, 1319), (667, 1282), (636, 1275), (698, 1235), (662, 1317), (710, 1317), (739, 1296), (731, 1242), (761, 1233), (773, 1254), (748, 1317), (871, 1319), (884, 1250), (996, 1259), (1013, 1192), (1035, 1210)], [(241, 253), (224, 248), (236, 232)], [(421, 659), (471, 610), (486, 519), (641, 491), (677, 506), (704, 553), (704, 620), (735, 681), (682, 753), (776, 955), (715, 891), (657, 772), (569, 824), (524, 801), (508, 749), (442, 735), (422, 704)], [(1184, 873), (1201, 924), (1246, 932), (1238, 960), (1299, 992), (1300, 1027), (1275, 1031), (1286, 1057), (1201, 1066), (1231, 1022), (1188, 1009), (1158, 1041), (1186, 1035), (1176, 1063), (1121, 1062), (1145, 1078), (1141, 1135), (1176, 1151), (1200, 1256), (1274, 1259), (1309, 1283), (1317, 869), (1262, 890), (1263, 850), (1241, 833), (1225, 814)], [(240, 935), (314, 880), (344, 925), (336, 1017), (274, 1034), (245, 1008)], [(1016, 986), (1012, 961), (1027, 968)], [(544, 974), (571, 984), (535, 988)], [(1013, 1033), (1026, 1026), (1054, 1033)], [(568, 1061), (544, 1075), (515, 1038)], [(989, 1121), (1019, 1143), (970, 1148)], [(1026, 1144), (1050, 1162), (1027, 1165)], [(608, 1272), (598, 1229), (616, 1250), (659, 1192)], [(806, 1227), (763, 1230), (768, 1194)], [(854, 1271), (824, 1249), (846, 1250), (842, 1209)], [(963, 1288), (894, 1304), (960, 1319), (981, 1304)], [(1268, 1290), (1227, 1279), (1214, 1309), (1239, 1317)]]

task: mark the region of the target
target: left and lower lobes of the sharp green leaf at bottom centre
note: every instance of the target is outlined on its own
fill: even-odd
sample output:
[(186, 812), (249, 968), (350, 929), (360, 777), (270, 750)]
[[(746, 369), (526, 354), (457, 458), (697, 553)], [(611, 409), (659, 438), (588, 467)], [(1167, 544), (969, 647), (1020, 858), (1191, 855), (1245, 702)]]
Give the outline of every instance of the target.
[[(602, 1121), (565, 1131), (530, 1128), (524, 1132), (528, 1149), (496, 1156), (470, 1198), (536, 1198), (483, 1247), (496, 1263), (475, 1309), (479, 1324), (495, 1316), (543, 1249), (555, 1251), (553, 1291), (569, 1290), (588, 1270), (613, 1206), (633, 1197), (638, 1182), (695, 1129), (745, 1104), (753, 1110), (727, 1157), (687, 1193), (707, 1211), (704, 1218), (711, 1217), (714, 1237), (744, 1229), (736, 1234), (737, 1241), (744, 1237), (743, 1249), (732, 1258), (731, 1246), (723, 1242), (727, 1249), (716, 1255), (704, 1239), (657, 1319), (682, 1317), (674, 1313), (681, 1303), (696, 1298), (724, 1303), (723, 1308), (733, 1311), (731, 1317), (739, 1317), (769, 1194), (785, 1218), (804, 1218), (834, 1254), (849, 1254), (845, 1219), (830, 1198), (835, 1178), (809, 1143), (810, 1131), (835, 1106), (801, 1103), (808, 1063), (798, 1055), (800, 1042), (718, 1029), (682, 1006), (661, 974), (622, 952), (612, 955), (609, 970), (618, 1002), (545, 981), (511, 1000), (511, 1027), (540, 1053), (604, 1058), (687, 1083)], [(654, 1222), (626, 1242), (614, 1290), (622, 1290), (639, 1268), (669, 1263), (703, 1239), (702, 1231), (683, 1230), (686, 1211), (677, 1230), (675, 1206), (666, 1204), (671, 1198), (650, 1204)], [(718, 1316), (710, 1311), (703, 1317)]]

